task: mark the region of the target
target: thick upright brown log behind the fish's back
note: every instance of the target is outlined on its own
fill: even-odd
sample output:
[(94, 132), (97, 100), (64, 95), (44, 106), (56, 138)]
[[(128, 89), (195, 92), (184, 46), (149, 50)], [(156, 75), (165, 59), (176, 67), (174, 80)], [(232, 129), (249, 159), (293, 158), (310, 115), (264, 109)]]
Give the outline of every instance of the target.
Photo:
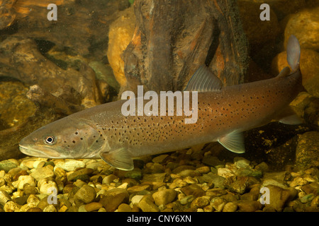
[(128, 90), (183, 90), (202, 64), (224, 83), (244, 81), (248, 51), (234, 0), (134, 3), (133, 39), (123, 53)]

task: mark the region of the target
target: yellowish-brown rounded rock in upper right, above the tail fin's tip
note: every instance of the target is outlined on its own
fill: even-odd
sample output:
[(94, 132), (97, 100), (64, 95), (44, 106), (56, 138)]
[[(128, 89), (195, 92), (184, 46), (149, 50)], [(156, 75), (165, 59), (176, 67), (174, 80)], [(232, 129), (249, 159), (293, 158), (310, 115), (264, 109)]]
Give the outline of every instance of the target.
[(289, 17), (285, 28), (285, 47), (290, 35), (295, 35), (303, 49), (319, 50), (319, 7), (305, 8)]

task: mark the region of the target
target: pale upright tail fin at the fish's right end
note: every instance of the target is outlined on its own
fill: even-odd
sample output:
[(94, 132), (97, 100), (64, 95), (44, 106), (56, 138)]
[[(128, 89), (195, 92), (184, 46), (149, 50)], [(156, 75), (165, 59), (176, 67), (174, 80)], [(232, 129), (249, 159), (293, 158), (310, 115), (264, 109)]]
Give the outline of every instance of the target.
[(296, 36), (291, 35), (287, 44), (287, 61), (291, 67), (291, 73), (298, 71), (300, 60), (300, 45)]

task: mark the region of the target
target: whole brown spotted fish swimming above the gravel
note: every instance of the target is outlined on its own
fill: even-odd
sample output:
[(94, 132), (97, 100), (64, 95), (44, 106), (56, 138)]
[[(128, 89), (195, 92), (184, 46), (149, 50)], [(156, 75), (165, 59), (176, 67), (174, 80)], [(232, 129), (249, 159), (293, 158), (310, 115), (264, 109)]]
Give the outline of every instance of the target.
[(234, 153), (245, 153), (244, 131), (272, 120), (301, 123), (289, 107), (303, 89), (300, 52), (291, 35), (287, 44), (291, 69), (240, 85), (223, 87), (207, 66), (200, 66), (183, 91), (197, 94), (196, 123), (186, 124), (186, 115), (123, 115), (121, 107), (128, 100), (118, 100), (53, 121), (23, 138), (19, 148), (26, 155), (52, 159), (101, 157), (123, 170), (132, 170), (138, 157), (215, 141)]

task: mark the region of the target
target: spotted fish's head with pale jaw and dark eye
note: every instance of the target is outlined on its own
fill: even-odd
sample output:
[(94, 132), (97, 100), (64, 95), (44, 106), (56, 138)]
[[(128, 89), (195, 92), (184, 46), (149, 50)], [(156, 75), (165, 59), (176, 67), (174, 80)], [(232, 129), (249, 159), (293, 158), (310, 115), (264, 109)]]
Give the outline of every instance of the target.
[(94, 157), (105, 138), (88, 120), (59, 119), (41, 127), (19, 143), (22, 153), (47, 158)]

